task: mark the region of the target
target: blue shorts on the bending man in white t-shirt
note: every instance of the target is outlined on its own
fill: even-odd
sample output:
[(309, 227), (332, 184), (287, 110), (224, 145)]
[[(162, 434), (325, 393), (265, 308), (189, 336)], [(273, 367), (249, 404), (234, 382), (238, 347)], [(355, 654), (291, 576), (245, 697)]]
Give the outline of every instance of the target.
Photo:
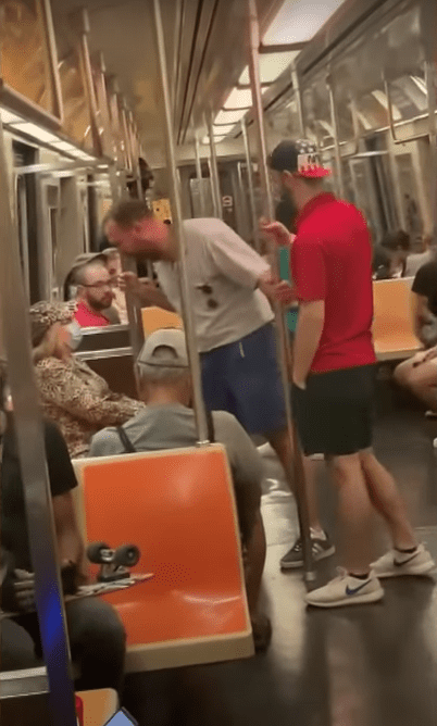
[(287, 425), (273, 325), (202, 353), (203, 397), (210, 411), (228, 411), (249, 434)]

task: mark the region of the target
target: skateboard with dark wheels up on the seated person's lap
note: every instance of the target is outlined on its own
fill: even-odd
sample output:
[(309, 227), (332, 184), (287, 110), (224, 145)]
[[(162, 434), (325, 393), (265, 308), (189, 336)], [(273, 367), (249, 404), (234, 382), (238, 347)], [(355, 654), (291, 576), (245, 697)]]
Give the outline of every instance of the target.
[[(135, 544), (123, 544), (122, 547), (112, 549), (105, 542), (92, 542), (87, 548), (87, 558), (92, 564), (100, 565), (96, 581), (80, 585), (75, 592), (64, 593), (64, 601), (73, 602), (83, 598), (109, 594), (110, 592), (126, 590), (135, 585), (140, 585), (152, 579), (153, 573), (130, 574), (129, 567), (135, 567), (140, 556), (140, 551)], [(4, 612), (0, 610), (0, 619), (33, 611), (35, 611), (35, 608), (17, 612)]]

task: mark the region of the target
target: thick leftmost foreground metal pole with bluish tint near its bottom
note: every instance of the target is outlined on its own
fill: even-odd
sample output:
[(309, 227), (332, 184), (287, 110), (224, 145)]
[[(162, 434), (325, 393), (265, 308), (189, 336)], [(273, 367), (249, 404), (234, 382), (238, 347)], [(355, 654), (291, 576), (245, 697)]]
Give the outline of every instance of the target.
[(14, 428), (22, 472), (35, 600), (47, 666), (53, 726), (76, 726), (68, 637), (65, 626), (41, 413), (30, 355), (27, 303), (14, 225), (0, 120), (0, 313)]

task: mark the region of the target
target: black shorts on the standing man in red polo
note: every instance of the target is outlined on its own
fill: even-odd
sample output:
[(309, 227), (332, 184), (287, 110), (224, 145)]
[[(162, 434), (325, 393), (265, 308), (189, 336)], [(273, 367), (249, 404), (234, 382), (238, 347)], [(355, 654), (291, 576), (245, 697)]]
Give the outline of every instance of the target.
[(375, 366), (329, 371), (292, 387), (292, 413), (303, 453), (341, 456), (372, 446)]

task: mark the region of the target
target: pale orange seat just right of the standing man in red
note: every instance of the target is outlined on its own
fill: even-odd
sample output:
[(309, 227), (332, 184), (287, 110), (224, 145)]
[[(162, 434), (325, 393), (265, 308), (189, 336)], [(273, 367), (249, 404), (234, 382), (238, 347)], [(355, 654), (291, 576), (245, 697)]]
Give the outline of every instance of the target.
[(409, 358), (421, 349), (411, 315), (412, 278), (373, 283), (373, 336), (378, 360)]

